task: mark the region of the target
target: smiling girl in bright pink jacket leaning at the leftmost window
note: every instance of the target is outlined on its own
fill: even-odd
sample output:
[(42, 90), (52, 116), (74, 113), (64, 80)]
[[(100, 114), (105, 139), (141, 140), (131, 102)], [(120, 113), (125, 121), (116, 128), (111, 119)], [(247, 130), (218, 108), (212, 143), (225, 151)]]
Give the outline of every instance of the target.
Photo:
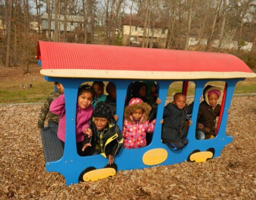
[[(93, 102), (94, 96), (95, 91), (91, 86), (83, 85), (79, 87), (76, 106), (76, 145), (78, 155), (83, 155), (82, 147), (84, 135), (89, 134), (87, 129), (89, 127), (89, 121), (93, 113), (93, 106), (91, 104)], [(60, 95), (51, 103), (50, 111), (60, 115), (57, 135), (64, 148), (66, 136), (66, 109), (64, 95)]]

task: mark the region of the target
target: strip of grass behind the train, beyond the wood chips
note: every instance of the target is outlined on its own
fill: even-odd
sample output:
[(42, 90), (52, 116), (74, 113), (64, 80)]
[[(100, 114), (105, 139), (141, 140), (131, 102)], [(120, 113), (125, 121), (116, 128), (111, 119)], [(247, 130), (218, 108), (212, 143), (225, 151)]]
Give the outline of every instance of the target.
[[(21, 74), (23, 76), (23, 74)], [(19, 83), (31, 83), (32, 88), (22, 89), (19, 88)], [(91, 84), (91, 82), (90, 82)], [(207, 84), (223, 88), (225, 82), (212, 81)], [(105, 83), (105, 86), (107, 83)], [(172, 97), (175, 93), (180, 92), (182, 89), (182, 82), (175, 81), (171, 84), (168, 96)], [(26, 76), (21, 80), (1, 80), (0, 81), (0, 104), (5, 103), (34, 103), (44, 102), (47, 96), (53, 91), (53, 82), (47, 82), (42, 76)], [(195, 83), (189, 82), (188, 95), (194, 95)], [(235, 94), (250, 94), (256, 93), (256, 78), (245, 79), (239, 81), (235, 87)]]

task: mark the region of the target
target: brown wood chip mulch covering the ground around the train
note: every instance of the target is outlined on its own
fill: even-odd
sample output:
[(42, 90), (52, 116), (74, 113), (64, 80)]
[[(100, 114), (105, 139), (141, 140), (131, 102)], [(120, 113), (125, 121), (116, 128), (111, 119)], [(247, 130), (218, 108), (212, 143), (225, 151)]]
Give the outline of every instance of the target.
[(46, 172), (39, 105), (0, 106), (0, 199), (256, 199), (256, 96), (234, 97), (220, 157), (65, 186)]

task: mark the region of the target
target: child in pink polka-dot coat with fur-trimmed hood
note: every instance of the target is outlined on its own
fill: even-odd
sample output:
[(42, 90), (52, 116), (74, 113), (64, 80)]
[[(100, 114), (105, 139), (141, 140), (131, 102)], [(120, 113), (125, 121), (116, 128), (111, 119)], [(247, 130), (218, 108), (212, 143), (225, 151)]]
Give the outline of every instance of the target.
[(124, 148), (147, 146), (146, 132), (153, 132), (156, 120), (149, 122), (150, 105), (140, 98), (132, 98), (124, 110)]

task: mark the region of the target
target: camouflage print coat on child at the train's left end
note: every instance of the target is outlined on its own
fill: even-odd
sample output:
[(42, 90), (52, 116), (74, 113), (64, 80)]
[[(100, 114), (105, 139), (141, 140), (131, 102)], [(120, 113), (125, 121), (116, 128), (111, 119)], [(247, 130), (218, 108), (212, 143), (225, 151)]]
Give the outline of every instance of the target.
[(48, 121), (59, 123), (60, 116), (57, 114), (53, 114), (49, 111), (52, 101), (59, 96), (60, 96), (60, 91), (53, 91), (45, 100), (44, 105), (42, 106), (41, 112), (39, 114), (39, 119), (37, 122), (38, 128), (41, 128), (41, 129), (44, 128), (44, 121), (46, 119), (46, 116)]

